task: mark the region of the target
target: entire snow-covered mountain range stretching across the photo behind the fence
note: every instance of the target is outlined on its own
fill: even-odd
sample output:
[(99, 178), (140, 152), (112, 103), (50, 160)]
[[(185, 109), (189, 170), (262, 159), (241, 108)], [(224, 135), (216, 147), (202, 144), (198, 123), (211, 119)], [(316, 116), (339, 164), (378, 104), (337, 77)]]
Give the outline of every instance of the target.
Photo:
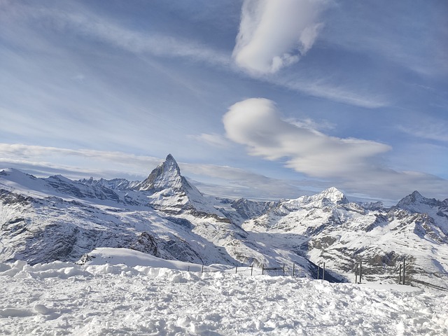
[(279, 202), (205, 196), (172, 155), (144, 181), (38, 179), (0, 172), (0, 261), (76, 261), (97, 247), (225, 265), (293, 262), (304, 276), (447, 287), (448, 200), (414, 192), (395, 207), (349, 202), (336, 188)]

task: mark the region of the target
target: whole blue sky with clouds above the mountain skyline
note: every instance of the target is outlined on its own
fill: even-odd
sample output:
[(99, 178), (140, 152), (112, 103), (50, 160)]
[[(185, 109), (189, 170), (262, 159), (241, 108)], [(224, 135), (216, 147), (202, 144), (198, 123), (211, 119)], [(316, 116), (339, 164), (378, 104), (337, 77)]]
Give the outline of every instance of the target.
[(0, 167), (448, 197), (448, 2), (0, 0)]

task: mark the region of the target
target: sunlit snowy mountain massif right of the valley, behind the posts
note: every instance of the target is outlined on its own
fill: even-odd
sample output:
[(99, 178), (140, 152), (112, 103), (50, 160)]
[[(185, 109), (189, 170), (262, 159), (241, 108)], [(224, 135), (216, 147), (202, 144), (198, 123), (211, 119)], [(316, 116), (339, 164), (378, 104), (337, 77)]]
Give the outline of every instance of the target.
[(266, 214), (243, 223), (248, 232), (300, 235), (302, 253), (314, 263), (353, 279), (362, 260), (365, 279), (398, 279), (407, 260), (407, 281), (444, 287), (448, 271), (448, 207), (412, 193), (390, 209), (348, 202), (339, 190), (283, 200)]

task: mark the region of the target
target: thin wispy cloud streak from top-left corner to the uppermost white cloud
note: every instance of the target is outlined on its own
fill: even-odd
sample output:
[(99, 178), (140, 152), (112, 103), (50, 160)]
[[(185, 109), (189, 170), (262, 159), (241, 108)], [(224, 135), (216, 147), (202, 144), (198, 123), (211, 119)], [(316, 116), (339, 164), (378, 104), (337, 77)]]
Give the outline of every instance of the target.
[[(104, 15), (97, 15), (80, 4), (66, 3), (64, 6), (10, 4), (3, 6), (5, 11), (0, 18), (12, 22), (40, 22), (40, 25), (55, 31), (78, 34), (136, 54), (187, 57), (218, 65), (228, 65), (231, 62), (230, 54), (209, 48), (200, 41), (160, 34), (157, 31), (131, 29)], [(33, 42), (30, 40), (30, 43)]]

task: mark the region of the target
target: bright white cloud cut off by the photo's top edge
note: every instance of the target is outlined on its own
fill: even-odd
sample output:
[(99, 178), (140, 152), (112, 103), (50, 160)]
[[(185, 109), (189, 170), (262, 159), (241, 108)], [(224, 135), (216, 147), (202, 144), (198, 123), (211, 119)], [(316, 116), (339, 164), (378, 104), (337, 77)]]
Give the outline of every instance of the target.
[(326, 1), (245, 0), (233, 57), (251, 74), (275, 73), (307, 53)]

